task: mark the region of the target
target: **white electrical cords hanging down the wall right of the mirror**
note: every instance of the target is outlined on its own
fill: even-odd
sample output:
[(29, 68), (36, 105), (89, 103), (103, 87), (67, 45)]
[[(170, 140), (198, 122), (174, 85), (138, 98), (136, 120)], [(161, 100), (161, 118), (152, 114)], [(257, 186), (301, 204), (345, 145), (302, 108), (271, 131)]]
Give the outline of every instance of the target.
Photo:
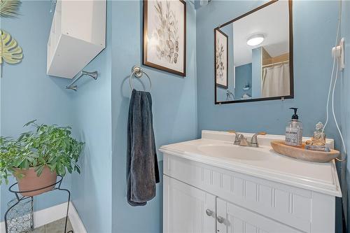
[[(337, 36), (335, 38), (335, 48), (338, 45), (339, 29), (340, 29), (341, 21), (342, 21), (342, 0), (339, 1), (339, 16), (338, 16), (338, 25), (337, 25)], [(335, 62), (336, 61), (337, 61), (337, 71), (336, 71), (336, 74), (335, 74), (335, 83), (334, 83), (333, 88), (332, 88), (332, 81), (333, 81), (333, 76), (334, 76), (334, 71), (335, 71)], [(338, 73), (339, 73), (339, 61), (337, 60), (337, 56), (335, 55), (334, 59), (333, 59), (332, 74), (330, 76), (330, 87), (329, 87), (329, 90), (328, 90), (327, 107), (326, 107), (327, 116), (326, 116), (325, 125), (323, 126), (322, 132), (324, 132), (324, 129), (325, 129), (326, 125), (328, 124), (328, 116), (329, 116), (328, 106), (329, 106), (329, 101), (330, 101), (330, 91), (332, 90), (332, 115), (333, 115), (333, 118), (335, 120), (335, 125), (337, 126), (337, 129), (338, 129), (338, 132), (339, 132), (339, 135), (340, 135), (340, 139), (342, 139), (342, 146), (344, 148), (344, 154), (346, 155), (346, 146), (345, 146), (345, 143), (344, 143), (344, 138), (343, 138), (342, 132), (339, 129), (339, 125), (338, 125), (338, 122), (337, 122), (337, 118), (335, 117), (335, 111), (334, 111), (334, 93), (335, 93), (335, 86), (337, 85)], [(344, 160), (340, 160), (338, 158), (337, 158), (337, 160), (338, 161), (344, 161)]]

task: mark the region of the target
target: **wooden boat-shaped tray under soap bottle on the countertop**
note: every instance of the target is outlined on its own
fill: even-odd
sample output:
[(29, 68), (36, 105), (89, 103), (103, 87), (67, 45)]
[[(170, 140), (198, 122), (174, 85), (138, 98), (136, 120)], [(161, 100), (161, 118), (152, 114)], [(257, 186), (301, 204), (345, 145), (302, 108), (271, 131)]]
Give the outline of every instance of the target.
[(305, 150), (304, 143), (301, 147), (294, 147), (287, 146), (284, 141), (272, 141), (271, 146), (276, 153), (310, 162), (330, 162), (339, 156), (338, 150), (331, 149), (330, 152)]

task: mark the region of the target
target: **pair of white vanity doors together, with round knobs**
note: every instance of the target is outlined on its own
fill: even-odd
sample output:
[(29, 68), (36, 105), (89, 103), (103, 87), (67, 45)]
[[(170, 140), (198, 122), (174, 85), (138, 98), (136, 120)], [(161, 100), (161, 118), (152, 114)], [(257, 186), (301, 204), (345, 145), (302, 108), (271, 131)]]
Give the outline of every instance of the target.
[(168, 176), (164, 192), (163, 232), (301, 232)]

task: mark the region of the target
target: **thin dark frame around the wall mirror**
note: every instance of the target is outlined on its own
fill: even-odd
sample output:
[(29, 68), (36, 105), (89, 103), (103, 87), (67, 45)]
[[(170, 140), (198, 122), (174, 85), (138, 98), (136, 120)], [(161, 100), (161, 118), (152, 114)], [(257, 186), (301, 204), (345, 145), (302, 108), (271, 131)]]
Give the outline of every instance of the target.
[[(283, 1), (283, 0), (271, 0), (262, 6), (259, 6), (257, 8), (254, 8), (251, 11), (248, 11), (247, 13), (240, 15), (239, 17), (236, 17), (233, 20), (230, 20), (229, 22), (225, 22), (224, 24), (219, 25), (218, 27), (214, 28), (214, 38), (216, 36), (216, 30), (220, 30), (221, 27), (225, 27), (228, 24), (232, 24), (232, 22), (235, 22), (237, 20), (240, 20), (243, 17), (246, 17), (247, 15), (251, 15), (251, 13), (254, 13), (255, 11), (261, 10), (262, 8), (265, 8), (266, 6), (271, 5), (272, 3), (275, 3), (276, 1)], [(230, 101), (218, 101), (216, 97), (216, 75), (215, 75), (215, 65), (216, 65), (216, 56), (215, 56), (215, 48), (216, 43), (214, 41), (214, 104), (235, 104), (235, 103), (243, 103), (243, 102), (253, 102), (253, 101), (265, 101), (265, 100), (274, 100), (274, 99), (294, 99), (294, 77), (293, 77), (293, 0), (288, 0), (288, 11), (289, 11), (289, 74), (290, 74), (290, 94), (286, 96), (279, 96), (279, 97), (265, 97), (265, 98), (255, 98), (255, 99), (238, 99), (238, 100), (230, 100)]]

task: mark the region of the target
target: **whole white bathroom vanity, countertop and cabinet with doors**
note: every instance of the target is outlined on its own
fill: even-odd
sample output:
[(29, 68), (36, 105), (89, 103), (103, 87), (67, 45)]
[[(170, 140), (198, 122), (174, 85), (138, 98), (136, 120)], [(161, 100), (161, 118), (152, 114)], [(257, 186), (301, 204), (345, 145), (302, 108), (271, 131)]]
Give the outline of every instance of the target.
[[(335, 197), (341, 191), (334, 162), (301, 162), (273, 152), (264, 157), (269, 161), (251, 157), (244, 162), (201, 150), (215, 143), (222, 141), (200, 139), (160, 148), (163, 232), (335, 232)], [(246, 150), (269, 150), (261, 144)], [(271, 162), (279, 166), (276, 171), (264, 167)], [(279, 171), (294, 168), (294, 175)], [(307, 175), (310, 169), (312, 176)]]

